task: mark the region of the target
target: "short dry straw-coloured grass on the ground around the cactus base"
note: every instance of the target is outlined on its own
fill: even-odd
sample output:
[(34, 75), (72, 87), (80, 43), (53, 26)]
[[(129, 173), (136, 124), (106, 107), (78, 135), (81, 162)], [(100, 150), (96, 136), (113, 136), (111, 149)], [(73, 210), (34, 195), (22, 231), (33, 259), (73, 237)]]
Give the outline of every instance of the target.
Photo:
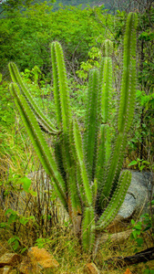
[[(13, 251), (6, 241), (6, 239), (11, 236), (13, 236), (11, 235), (11, 232), (8, 234), (8, 232), (6, 233), (5, 230), (1, 231), (1, 256), (6, 252)], [(19, 233), (18, 237), (21, 239), (21, 244), (26, 243), (26, 235), (23, 233), (23, 231)], [(33, 238), (31, 239), (31, 242), (33, 243)], [(152, 245), (149, 238), (147, 239), (147, 244), (149, 247)], [(113, 266), (110, 267), (108, 264), (105, 264), (105, 261), (108, 260), (108, 258), (121, 256), (125, 257), (133, 255), (135, 252), (137, 252), (137, 250), (135, 250), (137, 249), (136, 243), (132, 242), (130, 239), (120, 245), (113, 245), (113, 243), (108, 240), (106, 243), (100, 246), (97, 256), (94, 259), (90, 258), (90, 256), (87, 256), (87, 254), (82, 252), (78, 239), (72, 235), (71, 227), (59, 227), (58, 225), (51, 228), (50, 237), (47, 237), (43, 247), (46, 248), (46, 250), (50, 252), (59, 263), (59, 267), (52, 272), (55, 274), (84, 273), (85, 265), (91, 261), (93, 261), (98, 266), (100, 273), (124, 274), (127, 268), (114, 269)], [(27, 248), (29, 248), (29, 245), (27, 245)], [(147, 245), (138, 248), (138, 251), (145, 248), (147, 248)], [(20, 250), (21, 247), (16, 251), (20, 253)], [(146, 264), (140, 263), (138, 265), (133, 265), (128, 269), (132, 274), (141, 274), (144, 273), (144, 270), (147, 269), (148, 266), (149, 269), (154, 269), (153, 261), (150, 261)]]

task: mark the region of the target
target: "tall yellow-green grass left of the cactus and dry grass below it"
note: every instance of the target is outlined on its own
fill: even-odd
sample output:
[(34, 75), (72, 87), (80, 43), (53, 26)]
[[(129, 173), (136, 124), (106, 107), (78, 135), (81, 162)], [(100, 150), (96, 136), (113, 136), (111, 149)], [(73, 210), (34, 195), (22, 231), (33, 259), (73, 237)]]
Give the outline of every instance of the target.
[[(76, 99), (75, 95), (76, 90)], [(78, 117), (80, 115), (79, 112)], [(127, 268), (114, 269), (104, 262), (112, 257), (133, 255), (136, 249), (149, 248), (151, 239), (146, 239), (140, 248), (130, 239), (116, 244), (108, 240), (100, 245), (95, 258), (83, 253), (18, 117), (13, 123), (14, 126), (8, 129), (2, 125), (0, 134), (0, 256), (7, 252), (25, 256), (28, 248), (37, 245), (46, 248), (58, 261), (59, 268), (53, 272), (55, 274), (84, 273), (85, 265), (91, 261), (98, 266), (100, 273), (124, 274)], [(23, 178), (27, 176), (31, 184), (24, 189)], [(5, 214), (9, 208), (14, 211)], [(129, 269), (133, 274), (151, 274), (153, 261)]]

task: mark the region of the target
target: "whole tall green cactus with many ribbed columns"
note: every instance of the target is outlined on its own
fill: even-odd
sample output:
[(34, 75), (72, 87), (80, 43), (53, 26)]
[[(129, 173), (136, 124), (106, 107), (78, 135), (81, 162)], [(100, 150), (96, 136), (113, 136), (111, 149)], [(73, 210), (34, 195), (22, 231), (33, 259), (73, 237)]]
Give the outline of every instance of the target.
[[(16, 107), (86, 252), (92, 250), (96, 232), (103, 231), (117, 215), (131, 181), (128, 171), (120, 172), (135, 106), (137, 21), (135, 13), (128, 15), (117, 136), (113, 146), (109, 127), (113, 47), (109, 41), (104, 43), (100, 71), (93, 69), (89, 74), (83, 134), (70, 110), (64, 56), (58, 42), (51, 45), (56, 126), (39, 110), (15, 64), (9, 64), (13, 80), (10, 91)], [(50, 152), (41, 128), (53, 134), (54, 154)]]

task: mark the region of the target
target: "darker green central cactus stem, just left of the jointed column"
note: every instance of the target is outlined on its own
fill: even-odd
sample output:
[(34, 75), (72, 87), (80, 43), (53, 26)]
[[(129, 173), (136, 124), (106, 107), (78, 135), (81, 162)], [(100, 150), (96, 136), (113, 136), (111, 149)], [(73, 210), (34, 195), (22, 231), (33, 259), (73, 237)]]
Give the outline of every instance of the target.
[(84, 151), (86, 154), (89, 182), (94, 180), (96, 153), (98, 145), (98, 127), (100, 124), (100, 89), (98, 69), (89, 74), (87, 91), (87, 113), (84, 132)]

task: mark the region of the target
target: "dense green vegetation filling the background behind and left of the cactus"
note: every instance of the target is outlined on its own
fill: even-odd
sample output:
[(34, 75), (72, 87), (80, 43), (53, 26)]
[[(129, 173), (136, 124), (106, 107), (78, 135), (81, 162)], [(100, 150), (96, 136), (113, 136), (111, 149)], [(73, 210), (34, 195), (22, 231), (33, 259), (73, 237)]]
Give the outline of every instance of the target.
[[(43, 182), (40, 188), (36, 179), (27, 179), (27, 174), (41, 167), (8, 90), (11, 79), (7, 65), (10, 61), (15, 62), (21, 71), (22, 78), (40, 109), (53, 123), (56, 123), (50, 44), (55, 40), (60, 42), (67, 66), (71, 108), (79, 121), (81, 132), (84, 132), (88, 73), (91, 68), (100, 67), (103, 55), (102, 44), (106, 39), (111, 40), (114, 47), (112, 62), (115, 83), (110, 103), (109, 123), (113, 124), (111, 134), (114, 136), (118, 111), (116, 105), (120, 90), (119, 79), (122, 74), (122, 39), (128, 12), (134, 11), (135, 7), (139, 17), (136, 105), (134, 121), (128, 132), (123, 167), (128, 168), (128, 164), (131, 163), (131, 167), (140, 171), (153, 171), (154, 168), (154, 6), (152, 1), (128, 1), (130, 5), (125, 5), (126, 1), (108, 1), (111, 3), (110, 6), (104, 1), (106, 8), (112, 6), (109, 12), (103, 6), (93, 6), (96, 3), (99, 5), (101, 1), (87, 1), (91, 7), (87, 6), (86, 9), (77, 6), (83, 4), (83, 1), (59, 1), (63, 2), (65, 7), (60, 7), (58, 1), (51, 2), (55, 1), (50, 3), (35, 1), (33, 5), (31, 5), (32, 1), (10, 1), (12, 5), (4, 5), (4, 9), (1, 5), (0, 184), (1, 206), (3, 210), (5, 209), (5, 216), (3, 211), (1, 213), (1, 229), (3, 233), (5, 230), (9, 231), (7, 240), (11, 239), (10, 246), (17, 251), (25, 251), (29, 245), (36, 242), (43, 245), (43, 240), (39, 242), (40, 237), (45, 237), (45, 242), (49, 243), (47, 237), (52, 235), (51, 227), (55, 229), (54, 226), (60, 227), (60, 225), (55, 214), (56, 194), (53, 192), (49, 195), (48, 184), (46, 185), (43, 179), (40, 179)], [(117, 12), (116, 8), (119, 9)], [(52, 144), (52, 139), (48, 139), (47, 136), (46, 138)], [(42, 174), (43, 177), (45, 174)], [(23, 204), (26, 215), (18, 210), (23, 192), (26, 198)], [(152, 197), (150, 200), (152, 201)], [(11, 207), (13, 201), (15, 201), (14, 209)], [(49, 207), (46, 207), (47, 201), (50, 201)], [(150, 226), (151, 220), (152, 218), (149, 217)], [(70, 225), (65, 223), (65, 226), (68, 230)], [(23, 237), (25, 231), (26, 239)], [(65, 237), (66, 230), (59, 231)], [(58, 237), (60, 238), (59, 234)], [(67, 242), (68, 247), (71, 246), (71, 240)], [(55, 247), (55, 245), (58, 245), (58, 241), (51, 246)]]

